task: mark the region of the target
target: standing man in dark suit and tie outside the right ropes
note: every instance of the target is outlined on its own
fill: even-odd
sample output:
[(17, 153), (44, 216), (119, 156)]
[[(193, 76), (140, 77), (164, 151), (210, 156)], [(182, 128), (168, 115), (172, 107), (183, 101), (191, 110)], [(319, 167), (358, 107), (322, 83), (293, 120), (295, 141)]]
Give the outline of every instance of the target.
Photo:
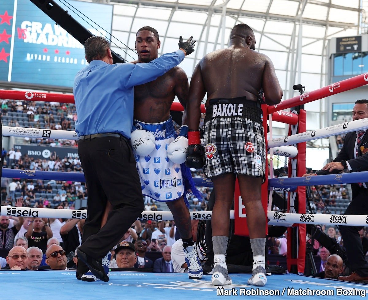
[[(353, 107), (353, 120), (368, 118), (368, 100), (357, 100)], [(343, 170), (350, 172), (368, 170), (368, 134), (365, 130), (349, 132), (337, 157), (326, 164), (315, 175), (336, 174)], [(304, 174), (311, 176), (311, 174)], [(344, 214), (368, 214), (368, 182), (351, 184), (352, 197)], [(343, 281), (367, 281), (368, 263), (363, 253), (359, 230), (363, 226), (339, 226), (346, 247), (348, 264), (352, 271), (349, 276), (340, 276)]]

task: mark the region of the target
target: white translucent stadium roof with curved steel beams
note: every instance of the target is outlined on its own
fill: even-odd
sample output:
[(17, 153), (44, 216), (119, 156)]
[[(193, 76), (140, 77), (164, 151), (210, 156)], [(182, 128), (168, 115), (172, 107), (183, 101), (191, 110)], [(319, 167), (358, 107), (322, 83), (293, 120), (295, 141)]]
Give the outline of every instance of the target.
[(117, 47), (113, 50), (127, 60), (137, 59), (135, 33), (142, 26), (158, 30), (162, 41), (159, 54), (176, 49), (180, 35), (194, 36), (196, 51), (181, 64), (189, 79), (206, 53), (227, 46), (234, 25), (250, 25), (256, 37), (256, 50), (268, 55), (275, 64), (284, 98), (294, 96), (290, 88), (293, 84), (302, 83), (306, 91), (325, 86), (328, 40), (364, 34), (368, 28), (366, 0), (93, 2), (114, 4), (112, 41), (126, 54)]

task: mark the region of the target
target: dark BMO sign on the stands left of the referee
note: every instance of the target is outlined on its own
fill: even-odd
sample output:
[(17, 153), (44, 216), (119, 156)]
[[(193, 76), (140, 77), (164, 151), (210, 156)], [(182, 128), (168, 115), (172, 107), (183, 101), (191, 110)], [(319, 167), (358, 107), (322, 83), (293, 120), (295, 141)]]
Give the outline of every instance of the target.
[(14, 150), (19, 151), (22, 155), (27, 154), (29, 157), (39, 159), (51, 159), (59, 156), (60, 159), (66, 157), (79, 158), (77, 148), (52, 148), (52, 147), (40, 147), (31, 145), (14, 145)]

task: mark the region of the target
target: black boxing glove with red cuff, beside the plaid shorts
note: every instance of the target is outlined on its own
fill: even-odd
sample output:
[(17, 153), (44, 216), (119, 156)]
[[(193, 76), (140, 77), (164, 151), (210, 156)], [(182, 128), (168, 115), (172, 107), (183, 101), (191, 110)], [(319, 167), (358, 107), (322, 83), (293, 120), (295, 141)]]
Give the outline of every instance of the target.
[(188, 131), (188, 149), (185, 166), (192, 169), (201, 169), (205, 165), (205, 151), (199, 137), (199, 130)]

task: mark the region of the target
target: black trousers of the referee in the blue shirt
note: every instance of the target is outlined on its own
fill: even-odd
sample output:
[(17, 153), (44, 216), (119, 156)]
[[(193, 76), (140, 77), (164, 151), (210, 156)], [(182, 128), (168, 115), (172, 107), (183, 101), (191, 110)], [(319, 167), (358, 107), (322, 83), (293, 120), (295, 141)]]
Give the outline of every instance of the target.
[[(79, 140), (78, 153), (88, 189), (88, 214), (80, 249), (101, 259), (142, 213), (141, 183), (130, 143), (124, 137)], [(112, 211), (101, 228), (107, 201)]]

